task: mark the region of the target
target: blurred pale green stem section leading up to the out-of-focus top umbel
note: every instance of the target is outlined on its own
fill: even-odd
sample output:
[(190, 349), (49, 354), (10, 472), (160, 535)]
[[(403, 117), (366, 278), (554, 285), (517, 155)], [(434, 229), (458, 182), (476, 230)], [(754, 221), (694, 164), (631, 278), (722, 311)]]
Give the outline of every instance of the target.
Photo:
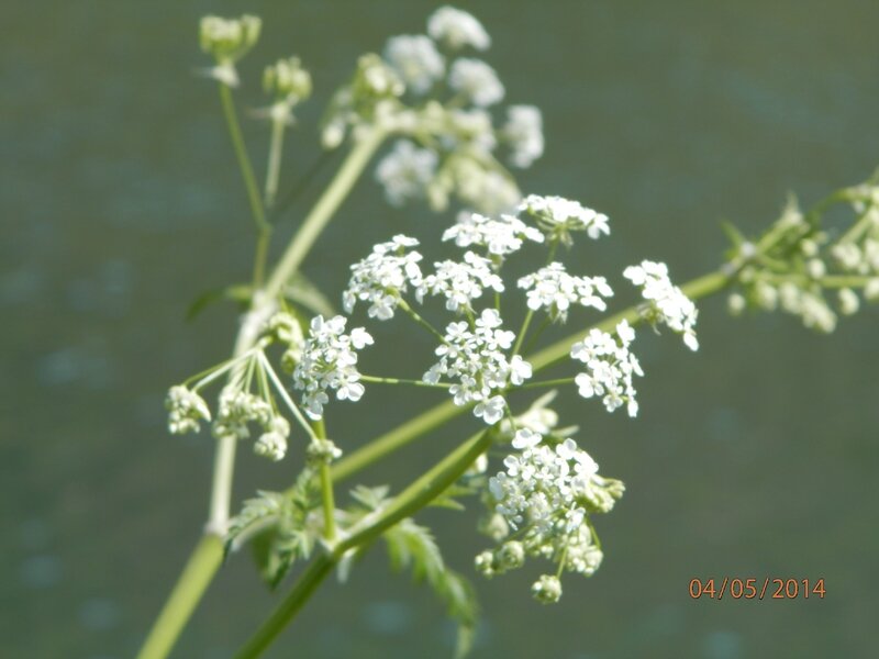
[(348, 154), (330, 187), (324, 191), (321, 199), (312, 209), (309, 216), (299, 227), (287, 250), (281, 256), (280, 261), (275, 267), (275, 271), (269, 277), (266, 284), (266, 292), (275, 297), (287, 283), (293, 272), (299, 269), (302, 259), (311, 249), (314, 241), (321, 235), (327, 222), (335, 213), (338, 205), (348, 194), (354, 183), (359, 178), (369, 159), (376, 153), (386, 133), (379, 129), (369, 130), (355, 143), (354, 148)]

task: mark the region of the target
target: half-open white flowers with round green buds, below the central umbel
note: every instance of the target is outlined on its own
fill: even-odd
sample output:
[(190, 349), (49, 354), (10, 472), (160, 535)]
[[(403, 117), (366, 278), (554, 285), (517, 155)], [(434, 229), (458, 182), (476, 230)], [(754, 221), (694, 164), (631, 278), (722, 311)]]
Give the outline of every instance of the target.
[[(518, 453), (508, 456), (504, 470), (489, 480), (496, 512), (521, 533), (497, 551), (477, 558), (477, 568), (492, 576), (518, 568), (524, 556), (537, 556), (587, 577), (603, 555), (589, 525), (589, 514), (607, 513), (623, 494), (623, 483), (599, 476), (598, 465), (574, 439), (547, 442), (539, 433), (520, 429), (513, 438)], [(535, 597), (555, 602), (561, 594), (557, 579), (542, 577)]]

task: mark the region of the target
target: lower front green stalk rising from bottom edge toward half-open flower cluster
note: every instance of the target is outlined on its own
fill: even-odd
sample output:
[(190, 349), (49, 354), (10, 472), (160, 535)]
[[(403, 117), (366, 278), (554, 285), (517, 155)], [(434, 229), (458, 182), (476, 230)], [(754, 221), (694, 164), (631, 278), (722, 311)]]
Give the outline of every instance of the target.
[(259, 657), (296, 617), (296, 614), (299, 613), (346, 551), (369, 545), (391, 526), (405, 517), (412, 516), (430, 504), (458, 480), (480, 455), (488, 450), (491, 445), (491, 437), (490, 431), (483, 431), (470, 437), (400, 492), (379, 514), (365, 517), (363, 528), (352, 529), (353, 533), (347, 538), (332, 546), (326, 554), (316, 558), (302, 573), (302, 577), (300, 577), (283, 602), (238, 650), (235, 658), (253, 659), (254, 657)]

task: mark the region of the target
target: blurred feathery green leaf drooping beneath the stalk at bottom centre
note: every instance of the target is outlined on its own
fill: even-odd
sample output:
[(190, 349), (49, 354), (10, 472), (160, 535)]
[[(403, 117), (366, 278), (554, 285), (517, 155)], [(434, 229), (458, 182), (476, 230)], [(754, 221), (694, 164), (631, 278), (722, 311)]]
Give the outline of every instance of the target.
[(458, 624), (455, 657), (465, 657), (472, 646), (479, 604), (470, 582), (446, 567), (431, 530), (411, 517), (402, 520), (383, 534), (391, 567), (412, 569), (416, 581), (425, 582), (442, 600), (449, 617)]

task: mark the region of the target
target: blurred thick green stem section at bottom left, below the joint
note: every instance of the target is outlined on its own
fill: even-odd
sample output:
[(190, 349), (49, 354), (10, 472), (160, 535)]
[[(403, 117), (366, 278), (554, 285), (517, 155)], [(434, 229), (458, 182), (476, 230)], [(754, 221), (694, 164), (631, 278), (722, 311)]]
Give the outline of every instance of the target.
[(215, 535), (202, 536), (149, 630), (137, 659), (163, 659), (168, 656), (222, 562), (223, 540)]

